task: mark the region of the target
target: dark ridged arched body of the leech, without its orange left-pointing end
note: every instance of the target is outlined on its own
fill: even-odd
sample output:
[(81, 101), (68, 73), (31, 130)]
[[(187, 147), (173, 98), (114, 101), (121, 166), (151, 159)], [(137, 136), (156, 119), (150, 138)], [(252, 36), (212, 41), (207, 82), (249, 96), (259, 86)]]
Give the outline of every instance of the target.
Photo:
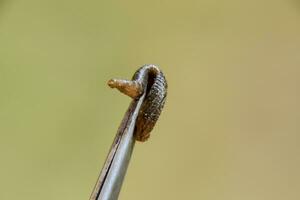
[(155, 65), (141, 67), (132, 80), (140, 83), (143, 92), (146, 92), (135, 130), (136, 140), (144, 142), (150, 137), (150, 132), (164, 107), (168, 85), (163, 73)]

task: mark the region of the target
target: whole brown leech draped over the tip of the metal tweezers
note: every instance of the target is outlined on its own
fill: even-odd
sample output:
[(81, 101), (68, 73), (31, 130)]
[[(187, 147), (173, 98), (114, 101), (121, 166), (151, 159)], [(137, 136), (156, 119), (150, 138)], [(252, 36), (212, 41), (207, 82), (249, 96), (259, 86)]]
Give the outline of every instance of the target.
[(150, 137), (150, 132), (158, 120), (166, 100), (168, 85), (163, 73), (155, 65), (144, 65), (135, 72), (131, 81), (111, 79), (108, 81), (108, 85), (111, 88), (117, 88), (133, 99), (138, 99), (146, 92), (134, 133), (137, 141), (146, 141)]

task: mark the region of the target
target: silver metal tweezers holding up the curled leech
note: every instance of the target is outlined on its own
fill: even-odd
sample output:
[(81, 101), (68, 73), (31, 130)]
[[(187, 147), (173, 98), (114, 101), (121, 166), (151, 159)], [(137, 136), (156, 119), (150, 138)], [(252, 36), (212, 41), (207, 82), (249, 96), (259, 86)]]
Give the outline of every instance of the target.
[(134, 128), (144, 98), (145, 94), (143, 94), (138, 100), (133, 100), (129, 106), (106, 158), (106, 162), (94, 187), (90, 200), (118, 199), (134, 148)]

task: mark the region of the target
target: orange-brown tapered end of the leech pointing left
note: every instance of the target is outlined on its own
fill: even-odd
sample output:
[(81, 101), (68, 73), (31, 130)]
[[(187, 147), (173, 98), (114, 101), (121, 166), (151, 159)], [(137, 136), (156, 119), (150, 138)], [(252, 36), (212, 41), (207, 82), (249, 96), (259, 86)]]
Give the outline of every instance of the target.
[(137, 81), (129, 81), (123, 79), (110, 79), (107, 83), (111, 88), (117, 88), (123, 94), (135, 99), (141, 96), (143, 89)]

